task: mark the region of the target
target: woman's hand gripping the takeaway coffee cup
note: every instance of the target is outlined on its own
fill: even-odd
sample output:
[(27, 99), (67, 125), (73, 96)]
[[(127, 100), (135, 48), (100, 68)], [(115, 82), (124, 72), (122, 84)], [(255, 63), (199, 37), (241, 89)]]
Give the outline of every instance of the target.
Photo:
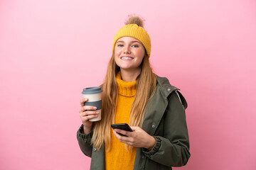
[(84, 128), (84, 133), (88, 134), (92, 130), (92, 122), (89, 121), (91, 118), (97, 118), (99, 114), (98, 111), (91, 111), (96, 110), (95, 106), (85, 106), (85, 102), (88, 101), (88, 98), (82, 98), (80, 101), (81, 109), (79, 111), (80, 118), (82, 120), (82, 125)]

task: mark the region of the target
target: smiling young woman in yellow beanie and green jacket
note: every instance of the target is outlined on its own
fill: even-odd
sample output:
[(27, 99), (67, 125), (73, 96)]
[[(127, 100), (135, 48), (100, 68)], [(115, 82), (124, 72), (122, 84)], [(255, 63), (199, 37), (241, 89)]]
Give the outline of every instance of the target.
[[(190, 157), (185, 98), (149, 64), (151, 40), (143, 21), (132, 16), (114, 36), (113, 55), (102, 84), (102, 120), (97, 108), (80, 101), (77, 137), (91, 157), (90, 169), (171, 169)], [(132, 132), (111, 124), (127, 123)]]

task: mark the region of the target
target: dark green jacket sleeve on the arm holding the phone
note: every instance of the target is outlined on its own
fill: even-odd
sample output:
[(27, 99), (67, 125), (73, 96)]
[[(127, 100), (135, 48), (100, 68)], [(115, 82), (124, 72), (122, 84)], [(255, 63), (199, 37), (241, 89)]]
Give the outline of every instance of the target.
[(142, 149), (149, 159), (165, 166), (186, 165), (190, 157), (186, 115), (178, 96), (172, 93), (164, 113), (162, 135), (153, 136), (156, 144), (151, 151)]

